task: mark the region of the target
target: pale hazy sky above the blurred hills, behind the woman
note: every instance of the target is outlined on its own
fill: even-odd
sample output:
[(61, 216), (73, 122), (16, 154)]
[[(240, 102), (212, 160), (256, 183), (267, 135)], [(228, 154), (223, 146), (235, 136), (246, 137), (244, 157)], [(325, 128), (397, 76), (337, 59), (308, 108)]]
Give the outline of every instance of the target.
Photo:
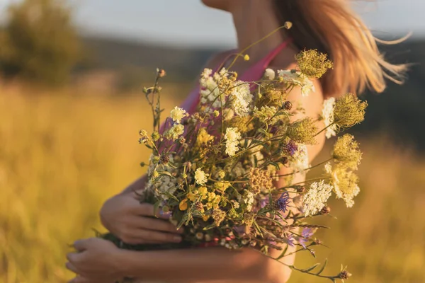
[[(0, 0), (0, 16), (13, 1), (18, 0)], [(229, 14), (207, 8), (200, 0), (70, 1), (74, 20), (83, 34), (182, 47), (231, 47), (236, 42)], [(354, 2), (378, 35), (406, 35), (412, 31), (414, 36), (425, 36), (425, 0)]]

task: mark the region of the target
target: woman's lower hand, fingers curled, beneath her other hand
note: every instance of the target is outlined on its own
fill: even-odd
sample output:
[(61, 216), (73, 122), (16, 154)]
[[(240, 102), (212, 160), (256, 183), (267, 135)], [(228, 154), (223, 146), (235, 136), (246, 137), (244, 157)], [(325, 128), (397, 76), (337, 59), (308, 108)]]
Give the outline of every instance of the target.
[(123, 250), (110, 241), (89, 238), (76, 241), (77, 253), (67, 255), (67, 268), (77, 274), (71, 283), (113, 283), (123, 279)]

